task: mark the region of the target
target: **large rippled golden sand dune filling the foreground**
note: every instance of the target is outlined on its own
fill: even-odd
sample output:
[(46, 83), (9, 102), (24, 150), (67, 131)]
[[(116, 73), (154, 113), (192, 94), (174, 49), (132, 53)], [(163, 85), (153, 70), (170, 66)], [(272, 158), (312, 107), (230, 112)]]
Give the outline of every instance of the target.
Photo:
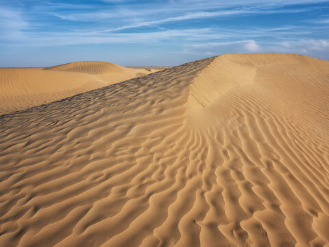
[(231, 54), (3, 115), (0, 245), (329, 246), (328, 95)]

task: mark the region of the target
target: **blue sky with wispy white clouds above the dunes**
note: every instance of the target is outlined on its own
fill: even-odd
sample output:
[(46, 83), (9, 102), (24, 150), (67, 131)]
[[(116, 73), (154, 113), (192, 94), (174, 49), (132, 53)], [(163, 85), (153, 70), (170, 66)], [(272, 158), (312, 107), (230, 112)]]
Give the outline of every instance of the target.
[(0, 67), (175, 66), (252, 52), (329, 60), (329, 1), (0, 0)]

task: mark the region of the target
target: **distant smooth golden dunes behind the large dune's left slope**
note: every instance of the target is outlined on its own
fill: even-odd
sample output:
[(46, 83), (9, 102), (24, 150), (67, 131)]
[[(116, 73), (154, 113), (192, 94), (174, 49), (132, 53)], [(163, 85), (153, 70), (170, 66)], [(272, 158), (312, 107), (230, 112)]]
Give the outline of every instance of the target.
[(147, 75), (111, 62), (71, 62), (49, 68), (0, 68), (0, 115), (47, 104), (92, 89)]

